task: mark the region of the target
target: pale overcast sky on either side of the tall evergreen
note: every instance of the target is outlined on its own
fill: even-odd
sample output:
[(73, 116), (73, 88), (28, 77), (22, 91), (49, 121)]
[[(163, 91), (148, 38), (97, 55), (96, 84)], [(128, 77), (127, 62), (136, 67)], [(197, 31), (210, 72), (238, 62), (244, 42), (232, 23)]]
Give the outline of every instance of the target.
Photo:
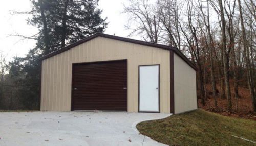
[[(99, 8), (103, 10), (102, 18), (107, 17), (109, 22), (106, 34), (127, 37), (130, 30), (125, 29), (127, 14), (122, 13), (123, 4), (127, 0), (100, 0)], [(25, 39), (15, 34), (32, 36), (38, 32), (36, 27), (27, 24), (28, 14), (13, 14), (14, 11), (30, 11), (32, 4), (30, 0), (8, 0), (2, 1), (0, 5), (0, 53), (6, 57), (7, 62), (13, 57), (24, 57), (28, 51), (35, 47), (35, 40)], [(135, 38), (132, 37), (132, 38)]]

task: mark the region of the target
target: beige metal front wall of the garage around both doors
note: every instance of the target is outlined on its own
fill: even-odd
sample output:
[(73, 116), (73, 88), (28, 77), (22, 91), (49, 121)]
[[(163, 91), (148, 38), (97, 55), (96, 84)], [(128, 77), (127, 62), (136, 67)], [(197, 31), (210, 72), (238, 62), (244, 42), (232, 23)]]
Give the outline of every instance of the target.
[(70, 111), (72, 63), (127, 59), (128, 112), (138, 112), (138, 66), (160, 64), (160, 112), (170, 112), (169, 51), (96, 37), (42, 61), (41, 110)]

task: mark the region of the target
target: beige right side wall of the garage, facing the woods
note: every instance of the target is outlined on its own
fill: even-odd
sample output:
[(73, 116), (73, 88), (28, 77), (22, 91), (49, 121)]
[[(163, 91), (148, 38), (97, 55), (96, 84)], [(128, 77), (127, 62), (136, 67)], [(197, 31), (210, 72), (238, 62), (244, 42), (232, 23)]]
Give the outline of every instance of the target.
[(175, 114), (197, 109), (196, 71), (174, 53)]

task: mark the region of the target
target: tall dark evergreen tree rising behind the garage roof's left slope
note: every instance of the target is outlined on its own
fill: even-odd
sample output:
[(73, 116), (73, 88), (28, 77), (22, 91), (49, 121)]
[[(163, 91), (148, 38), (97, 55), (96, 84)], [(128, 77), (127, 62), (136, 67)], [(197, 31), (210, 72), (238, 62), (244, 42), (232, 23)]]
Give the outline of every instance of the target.
[(38, 0), (32, 1), (33, 17), (28, 22), (38, 27), (37, 48), (51, 53), (95, 33), (102, 33), (106, 18), (98, 9), (98, 0)]

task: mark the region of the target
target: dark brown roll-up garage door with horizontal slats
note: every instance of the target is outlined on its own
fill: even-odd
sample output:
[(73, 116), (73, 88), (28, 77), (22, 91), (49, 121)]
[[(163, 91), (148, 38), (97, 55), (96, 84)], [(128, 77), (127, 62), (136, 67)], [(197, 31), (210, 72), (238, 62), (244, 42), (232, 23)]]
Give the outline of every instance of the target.
[(127, 61), (73, 64), (71, 108), (127, 111)]

